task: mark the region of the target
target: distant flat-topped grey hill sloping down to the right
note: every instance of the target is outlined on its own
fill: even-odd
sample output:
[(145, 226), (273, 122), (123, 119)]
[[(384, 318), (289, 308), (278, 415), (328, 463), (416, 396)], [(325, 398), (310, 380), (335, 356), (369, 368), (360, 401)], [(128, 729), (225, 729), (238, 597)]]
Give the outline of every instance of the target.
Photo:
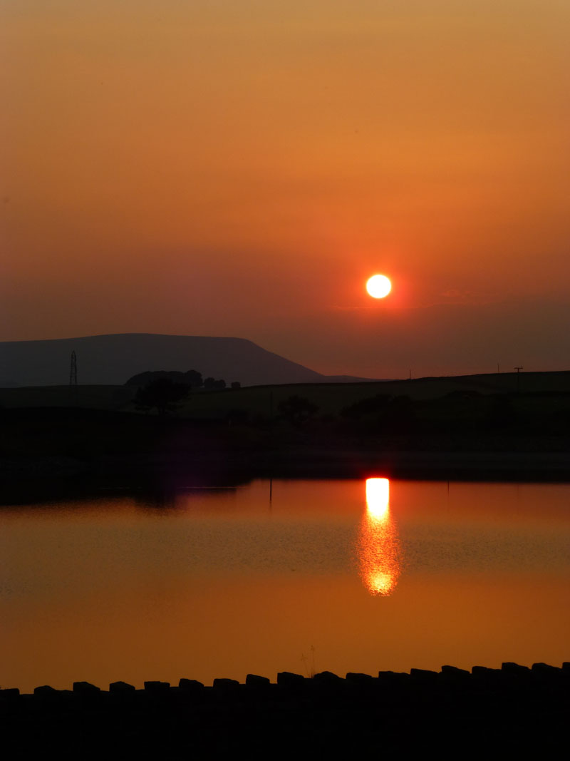
[(0, 342), (0, 386), (68, 384), (73, 351), (81, 385), (122, 385), (149, 370), (197, 370), (203, 377), (222, 377), (228, 384), (239, 380), (242, 386), (370, 380), (323, 375), (248, 339), (114, 333)]

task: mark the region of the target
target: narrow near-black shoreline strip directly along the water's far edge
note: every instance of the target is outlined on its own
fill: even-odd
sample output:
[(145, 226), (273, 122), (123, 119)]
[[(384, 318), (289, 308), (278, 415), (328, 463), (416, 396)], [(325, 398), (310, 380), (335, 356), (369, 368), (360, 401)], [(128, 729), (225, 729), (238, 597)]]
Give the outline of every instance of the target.
[(413, 451), (296, 447), (122, 457), (0, 458), (0, 505), (125, 492), (169, 495), (253, 479), (570, 482), (566, 451)]

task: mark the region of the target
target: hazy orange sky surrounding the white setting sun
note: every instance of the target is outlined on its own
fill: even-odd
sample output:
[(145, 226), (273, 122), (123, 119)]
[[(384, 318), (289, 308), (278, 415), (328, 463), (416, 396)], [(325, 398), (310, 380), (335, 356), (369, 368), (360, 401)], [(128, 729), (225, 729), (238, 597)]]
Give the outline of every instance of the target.
[(0, 0), (0, 340), (569, 369), (568, 30), (568, 0)]

